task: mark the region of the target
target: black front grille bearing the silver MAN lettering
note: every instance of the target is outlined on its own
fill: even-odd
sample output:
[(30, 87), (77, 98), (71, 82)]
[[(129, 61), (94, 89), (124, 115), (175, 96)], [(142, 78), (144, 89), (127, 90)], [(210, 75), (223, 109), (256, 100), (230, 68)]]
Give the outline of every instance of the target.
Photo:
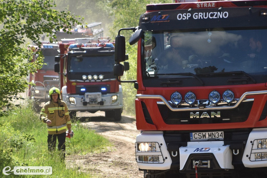
[[(158, 104), (160, 114), (166, 124), (211, 124), (211, 123), (233, 123), (245, 122), (248, 119), (253, 101), (242, 102), (236, 109), (211, 111), (171, 111), (166, 105)], [(190, 118), (190, 113), (198, 117)], [(220, 112), (220, 117), (211, 117), (211, 112)], [(201, 118), (202, 117), (202, 118)]]

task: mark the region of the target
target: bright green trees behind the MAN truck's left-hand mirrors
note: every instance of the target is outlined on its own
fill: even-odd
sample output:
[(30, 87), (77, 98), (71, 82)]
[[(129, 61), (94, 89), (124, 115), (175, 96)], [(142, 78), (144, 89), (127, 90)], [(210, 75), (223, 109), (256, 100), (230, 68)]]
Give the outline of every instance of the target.
[[(139, 24), (141, 14), (146, 12), (146, 5), (151, 3), (171, 3), (171, 0), (113, 0), (110, 3), (112, 7), (112, 16), (114, 16), (113, 26), (110, 28), (110, 33), (113, 39), (118, 34), (120, 28), (136, 27)], [(123, 30), (121, 35), (125, 36), (126, 40), (126, 54), (129, 55), (130, 70), (124, 72), (122, 80), (136, 79), (136, 65), (137, 65), (137, 45), (130, 46), (127, 42), (132, 31)], [(123, 83), (123, 97), (124, 97), (124, 111), (129, 114), (135, 114), (135, 95), (136, 90), (132, 83)]]

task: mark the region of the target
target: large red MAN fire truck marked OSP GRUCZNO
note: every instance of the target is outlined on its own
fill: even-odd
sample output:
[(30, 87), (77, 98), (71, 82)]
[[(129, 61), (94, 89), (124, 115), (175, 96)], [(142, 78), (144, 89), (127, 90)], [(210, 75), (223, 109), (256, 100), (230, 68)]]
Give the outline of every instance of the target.
[(266, 177), (267, 1), (147, 5), (115, 39), (116, 76), (121, 30), (138, 42), (137, 80), (126, 82), (144, 177)]

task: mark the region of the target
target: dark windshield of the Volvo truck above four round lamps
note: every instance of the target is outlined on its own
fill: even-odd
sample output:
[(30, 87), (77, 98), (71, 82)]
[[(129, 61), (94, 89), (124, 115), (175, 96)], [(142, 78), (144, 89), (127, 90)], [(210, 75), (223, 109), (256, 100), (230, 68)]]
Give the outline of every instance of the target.
[(114, 54), (104, 56), (72, 56), (69, 58), (69, 72), (90, 73), (110, 72), (113, 73), (115, 64)]

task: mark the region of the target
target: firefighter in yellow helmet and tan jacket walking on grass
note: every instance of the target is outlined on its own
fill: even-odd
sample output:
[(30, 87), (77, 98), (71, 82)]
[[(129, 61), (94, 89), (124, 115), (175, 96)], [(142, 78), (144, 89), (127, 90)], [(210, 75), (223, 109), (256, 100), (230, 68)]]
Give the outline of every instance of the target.
[(60, 90), (53, 87), (49, 90), (50, 101), (45, 103), (41, 109), (40, 120), (47, 124), (48, 130), (48, 150), (52, 151), (56, 148), (56, 140), (58, 140), (58, 150), (62, 150), (63, 159), (65, 158), (65, 140), (66, 129), (71, 131), (71, 121), (66, 103), (61, 101)]

